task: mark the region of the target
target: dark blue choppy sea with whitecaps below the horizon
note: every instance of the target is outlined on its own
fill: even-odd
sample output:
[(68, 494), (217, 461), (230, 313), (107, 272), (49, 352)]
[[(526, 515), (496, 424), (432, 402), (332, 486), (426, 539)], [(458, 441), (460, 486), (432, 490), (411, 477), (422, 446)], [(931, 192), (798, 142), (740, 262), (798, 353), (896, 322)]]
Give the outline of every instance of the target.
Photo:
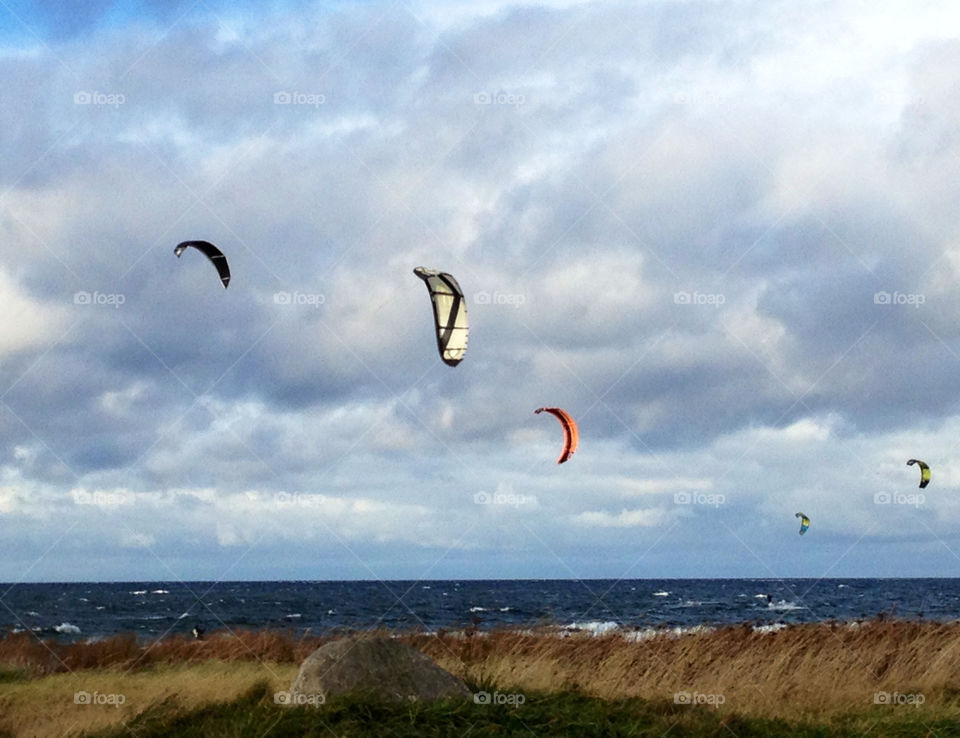
[[(769, 598), (768, 598), (769, 595)], [(324, 634), (376, 627), (609, 632), (875, 617), (960, 618), (958, 579), (139, 582), (0, 585), (0, 633), (59, 640), (195, 625)]]

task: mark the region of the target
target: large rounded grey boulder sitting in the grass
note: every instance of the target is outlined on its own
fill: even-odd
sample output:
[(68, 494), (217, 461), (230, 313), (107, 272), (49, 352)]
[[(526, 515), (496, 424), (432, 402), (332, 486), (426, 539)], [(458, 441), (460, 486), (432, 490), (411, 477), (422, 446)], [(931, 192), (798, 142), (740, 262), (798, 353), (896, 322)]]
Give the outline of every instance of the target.
[(290, 691), (323, 698), (363, 692), (392, 700), (470, 697), (467, 685), (413, 646), (390, 638), (341, 638), (300, 665)]

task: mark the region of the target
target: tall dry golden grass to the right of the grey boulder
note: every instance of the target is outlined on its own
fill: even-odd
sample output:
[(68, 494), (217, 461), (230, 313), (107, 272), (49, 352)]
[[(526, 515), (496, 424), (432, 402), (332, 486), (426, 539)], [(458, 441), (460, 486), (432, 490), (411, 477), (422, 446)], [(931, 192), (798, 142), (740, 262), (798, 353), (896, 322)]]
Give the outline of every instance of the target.
[(721, 694), (724, 707), (763, 717), (813, 718), (869, 710), (877, 692), (924, 695), (927, 710), (960, 715), (960, 624), (872, 621), (776, 633), (729, 627), (679, 638), (410, 639), (462, 677), (530, 691), (673, 700)]

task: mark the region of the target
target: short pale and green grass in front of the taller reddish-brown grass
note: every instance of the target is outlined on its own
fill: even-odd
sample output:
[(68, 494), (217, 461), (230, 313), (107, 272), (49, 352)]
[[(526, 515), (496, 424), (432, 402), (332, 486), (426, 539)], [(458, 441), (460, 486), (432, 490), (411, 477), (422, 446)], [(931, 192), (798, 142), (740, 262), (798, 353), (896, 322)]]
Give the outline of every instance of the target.
[[(291, 666), (277, 676), (292, 677)], [(115, 671), (33, 680), (0, 710), (3, 736), (216, 738), (253, 736), (960, 736), (960, 721), (941, 711), (873, 706), (812, 719), (740, 714), (724, 705), (672, 700), (604, 700), (577, 692), (525, 693), (520, 705), (454, 700), (389, 704), (335, 698), (320, 707), (278, 705), (277, 681), (258, 680), (249, 663), (160, 667), (122, 677)], [(279, 688), (285, 688), (286, 680)], [(73, 691), (122, 690), (121, 707), (76, 705)], [(493, 685), (471, 685), (490, 691)], [(516, 694), (517, 688), (506, 688)], [(239, 690), (232, 691), (232, 690)], [(238, 695), (239, 696), (236, 696)]]

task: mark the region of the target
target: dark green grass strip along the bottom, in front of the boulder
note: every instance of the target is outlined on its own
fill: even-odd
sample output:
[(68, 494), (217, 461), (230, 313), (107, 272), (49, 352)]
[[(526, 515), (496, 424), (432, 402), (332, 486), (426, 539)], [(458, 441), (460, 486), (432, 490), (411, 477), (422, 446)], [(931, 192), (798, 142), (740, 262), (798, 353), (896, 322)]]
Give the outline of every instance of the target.
[(576, 693), (527, 695), (517, 707), (477, 705), (466, 700), (386, 703), (343, 697), (322, 707), (274, 704), (266, 683), (239, 699), (191, 711), (154, 706), (125, 728), (100, 738), (177, 735), (196, 738), (274, 736), (960, 736), (953, 720), (924, 720), (922, 709), (876, 709), (814, 725), (745, 718), (723, 709), (639, 699), (601, 700)]

